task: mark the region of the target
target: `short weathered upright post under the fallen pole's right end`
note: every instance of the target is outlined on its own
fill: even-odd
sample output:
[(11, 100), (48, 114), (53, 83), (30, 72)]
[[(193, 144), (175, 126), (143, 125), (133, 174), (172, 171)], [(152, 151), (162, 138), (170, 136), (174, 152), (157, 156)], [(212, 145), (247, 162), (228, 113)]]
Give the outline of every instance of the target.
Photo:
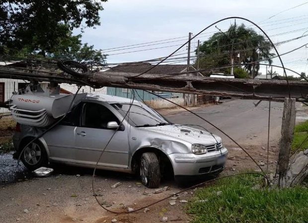
[(279, 156), (278, 156), (278, 174), (279, 181), (278, 185), (284, 187), (288, 179), (287, 170), (289, 167), (289, 157), (291, 151), (291, 145), (294, 134), (296, 118), (296, 107), (294, 98), (285, 98), (284, 109), (282, 116), (281, 126), (281, 139), (279, 143)]

